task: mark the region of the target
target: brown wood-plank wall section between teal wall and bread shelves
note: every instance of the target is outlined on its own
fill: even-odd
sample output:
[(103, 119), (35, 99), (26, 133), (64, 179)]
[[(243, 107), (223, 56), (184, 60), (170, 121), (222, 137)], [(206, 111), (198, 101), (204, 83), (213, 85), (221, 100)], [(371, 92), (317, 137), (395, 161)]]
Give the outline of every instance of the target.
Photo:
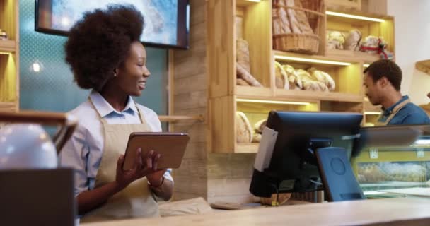
[[(174, 50), (172, 54), (170, 113), (201, 114), (207, 119), (206, 1), (191, 0), (190, 13), (190, 49)], [(173, 170), (173, 200), (207, 198), (207, 123), (184, 121), (170, 129), (190, 135), (181, 167)]]

